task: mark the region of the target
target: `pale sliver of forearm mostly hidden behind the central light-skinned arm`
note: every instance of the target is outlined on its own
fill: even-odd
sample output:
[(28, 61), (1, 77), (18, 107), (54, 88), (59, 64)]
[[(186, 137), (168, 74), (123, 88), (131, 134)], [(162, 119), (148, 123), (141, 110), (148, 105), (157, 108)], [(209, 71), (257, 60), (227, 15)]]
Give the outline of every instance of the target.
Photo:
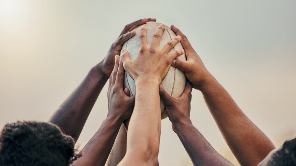
[(127, 133), (125, 127), (121, 124), (110, 155), (105, 164), (106, 166), (116, 166), (123, 159), (126, 152), (126, 136)]

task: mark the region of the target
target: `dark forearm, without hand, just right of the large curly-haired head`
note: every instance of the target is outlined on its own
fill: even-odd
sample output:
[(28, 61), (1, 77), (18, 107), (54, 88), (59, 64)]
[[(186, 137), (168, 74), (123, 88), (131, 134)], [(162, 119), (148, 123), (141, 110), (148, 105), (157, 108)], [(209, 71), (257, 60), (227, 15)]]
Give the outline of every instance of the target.
[(78, 166), (105, 165), (121, 124), (122, 122), (117, 119), (107, 117), (99, 130), (80, 151), (82, 156), (73, 164)]

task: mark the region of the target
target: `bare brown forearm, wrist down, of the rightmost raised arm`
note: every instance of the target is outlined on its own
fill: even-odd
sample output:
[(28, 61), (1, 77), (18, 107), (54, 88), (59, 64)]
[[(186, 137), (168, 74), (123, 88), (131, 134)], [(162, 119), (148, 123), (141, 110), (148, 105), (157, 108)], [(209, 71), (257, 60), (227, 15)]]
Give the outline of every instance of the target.
[(200, 90), (224, 139), (241, 165), (257, 165), (275, 148), (214, 77), (208, 79)]

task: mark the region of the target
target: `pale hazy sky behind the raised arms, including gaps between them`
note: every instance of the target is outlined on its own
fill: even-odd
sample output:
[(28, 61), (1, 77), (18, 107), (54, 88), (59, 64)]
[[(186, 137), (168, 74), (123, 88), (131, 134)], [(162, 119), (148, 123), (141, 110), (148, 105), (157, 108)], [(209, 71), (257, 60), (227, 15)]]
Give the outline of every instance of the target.
[[(244, 113), (275, 143), (296, 136), (296, 1), (0, 0), (0, 126), (47, 121), (105, 57), (124, 26), (141, 18), (175, 25)], [(83, 148), (107, 115), (105, 86), (78, 139)], [(191, 120), (234, 164), (198, 90)], [(192, 165), (169, 119), (161, 166)], [(237, 165), (237, 164), (236, 164)]]

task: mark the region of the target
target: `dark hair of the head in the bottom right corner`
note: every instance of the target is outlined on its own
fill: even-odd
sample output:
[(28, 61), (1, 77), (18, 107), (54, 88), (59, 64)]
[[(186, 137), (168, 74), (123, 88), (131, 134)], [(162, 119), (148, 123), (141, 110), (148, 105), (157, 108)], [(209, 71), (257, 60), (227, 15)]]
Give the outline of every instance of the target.
[(296, 166), (296, 138), (287, 140), (268, 162), (269, 166)]

